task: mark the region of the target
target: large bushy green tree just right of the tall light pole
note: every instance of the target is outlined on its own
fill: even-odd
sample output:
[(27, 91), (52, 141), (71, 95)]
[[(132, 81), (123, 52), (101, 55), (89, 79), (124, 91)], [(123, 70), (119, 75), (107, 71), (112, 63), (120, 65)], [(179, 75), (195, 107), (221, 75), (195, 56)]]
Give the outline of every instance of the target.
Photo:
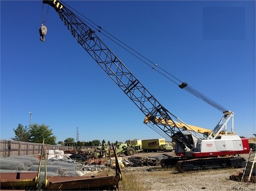
[(53, 135), (52, 129), (45, 124), (38, 125), (36, 123), (30, 126), (30, 142), (32, 143), (42, 143), (44, 139), (44, 144), (56, 145), (56, 136)]

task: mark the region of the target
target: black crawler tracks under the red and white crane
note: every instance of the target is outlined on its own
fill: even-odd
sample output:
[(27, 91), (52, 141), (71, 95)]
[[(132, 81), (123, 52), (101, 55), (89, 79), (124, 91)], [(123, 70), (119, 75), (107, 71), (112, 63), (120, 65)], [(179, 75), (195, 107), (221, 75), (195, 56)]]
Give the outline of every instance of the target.
[(191, 158), (172, 157), (161, 160), (161, 167), (175, 167), (179, 172), (220, 169), (220, 168), (242, 168), (245, 159), (242, 157), (216, 157), (216, 158)]

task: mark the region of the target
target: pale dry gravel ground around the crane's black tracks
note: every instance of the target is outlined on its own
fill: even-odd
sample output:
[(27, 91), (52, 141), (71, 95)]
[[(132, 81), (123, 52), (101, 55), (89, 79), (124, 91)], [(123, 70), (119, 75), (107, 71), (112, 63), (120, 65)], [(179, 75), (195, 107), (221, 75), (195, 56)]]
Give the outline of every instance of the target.
[[(135, 156), (150, 157), (163, 153), (145, 153)], [(174, 156), (173, 152), (166, 153)], [(247, 159), (248, 155), (243, 155)], [(125, 157), (122, 157), (125, 158)], [(125, 167), (123, 175), (139, 175), (139, 182), (151, 185), (151, 191), (256, 191), (255, 183), (230, 180), (230, 175), (244, 169), (218, 169), (178, 173), (175, 168), (163, 170), (161, 166)]]

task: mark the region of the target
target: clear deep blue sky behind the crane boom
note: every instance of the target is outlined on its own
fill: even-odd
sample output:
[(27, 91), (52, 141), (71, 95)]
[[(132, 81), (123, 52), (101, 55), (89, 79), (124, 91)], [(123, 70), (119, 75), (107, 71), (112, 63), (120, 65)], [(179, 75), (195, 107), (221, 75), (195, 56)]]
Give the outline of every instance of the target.
[[(150, 61), (234, 112), (236, 134), (255, 132), (255, 1), (65, 1)], [(46, 124), (58, 141), (161, 138), (76, 42), (53, 8), (39, 39), (42, 1), (0, 1), (1, 139)], [(98, 34), (98, 33), (97, 33)], [(101, 34), (147, 90), (187, 124), (213, 129), (222, 113)]]

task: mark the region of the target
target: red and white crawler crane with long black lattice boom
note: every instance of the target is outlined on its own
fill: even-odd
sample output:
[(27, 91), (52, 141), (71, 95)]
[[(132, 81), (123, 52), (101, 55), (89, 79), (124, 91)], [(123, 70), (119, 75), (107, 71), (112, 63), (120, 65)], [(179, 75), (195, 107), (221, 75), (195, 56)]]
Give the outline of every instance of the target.
[[(103, 43), (96, 32), (69, 10), (63, 2), (43, 0), (43, 3), (54, 8), (77, 42), (145, 114), (144, 123), (159, 128), (163, 134), (176, 142), (177, 157), (161, 161), (162, 166), (175, 165), (179, 171), (243, 166), (244, 158), (234, 155), (247, 154), (250, 152), (250, 148), (247, 138), (240, 138), (234, 134), (233, 112), (220, 108), (223, 113), (220, 122), (212, 131), (207, 133), (207, 136), (203, 136), (192, 126), (185, 124), (169, 112), (149, 93), (121, 60)], [(41, 41), (44, 41), (46, 31), (45, 26), (40, 28)], [(189, 89), (187, 83), (182, 83), (179, 87)], [(227, 126), (230, 120), (232, 128), (231, 132), (228, 132)]]

